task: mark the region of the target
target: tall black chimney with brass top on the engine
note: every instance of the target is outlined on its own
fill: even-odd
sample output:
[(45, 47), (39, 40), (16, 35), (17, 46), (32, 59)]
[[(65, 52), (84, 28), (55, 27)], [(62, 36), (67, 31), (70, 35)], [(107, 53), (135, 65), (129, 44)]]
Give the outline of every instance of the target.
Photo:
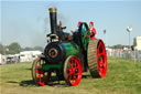
[(50, 11), (51, 33), (56, 34), (57, 32), (56, 9), (50, 8), (48, 11)]

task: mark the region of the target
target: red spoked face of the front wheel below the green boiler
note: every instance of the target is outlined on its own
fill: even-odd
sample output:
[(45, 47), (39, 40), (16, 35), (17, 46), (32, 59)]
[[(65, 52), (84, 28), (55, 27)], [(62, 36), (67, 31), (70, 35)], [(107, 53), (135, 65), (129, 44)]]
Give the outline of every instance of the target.
[(70, 58), (67, 63), (67, 75), (70, 85), (78, 85), (82, 80), (82, 63), (77, 56)]

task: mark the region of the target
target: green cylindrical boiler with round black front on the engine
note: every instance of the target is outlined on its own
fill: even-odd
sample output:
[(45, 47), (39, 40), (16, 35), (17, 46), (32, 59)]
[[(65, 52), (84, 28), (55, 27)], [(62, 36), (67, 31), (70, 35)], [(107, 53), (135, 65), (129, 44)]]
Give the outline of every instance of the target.
[(52, 42), (44, 50), (45, 58), (51, 63), (58, 63), (69, 55), (78, 55), (79, 49), (76, 44)]

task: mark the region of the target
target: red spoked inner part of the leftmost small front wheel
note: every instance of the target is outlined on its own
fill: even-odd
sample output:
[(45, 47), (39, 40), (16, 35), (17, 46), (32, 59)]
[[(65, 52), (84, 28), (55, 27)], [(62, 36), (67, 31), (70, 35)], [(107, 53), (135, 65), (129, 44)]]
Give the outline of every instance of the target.
[(47, 84), (47, 82), (50, 81), (51, 79), (51, 72), (45, 72), (44, 70), (41, 70), (41, 61), (39, 63), (36, 63), (35, 65), (35, 82), (43, 86), (45, 84)]

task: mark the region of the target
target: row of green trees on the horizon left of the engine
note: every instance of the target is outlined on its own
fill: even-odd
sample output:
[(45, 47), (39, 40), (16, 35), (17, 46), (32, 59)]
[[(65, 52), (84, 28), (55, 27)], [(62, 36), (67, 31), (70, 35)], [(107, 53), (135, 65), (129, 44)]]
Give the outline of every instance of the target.
[(39, 50), (42, 52), (44, 51), (44, 49), (42, 46), (22, 48), (18, 42), (13, 42), (9, 45), (0, 44), (0, 54), (17, 54), (22, 51), (34, 51), (34, 50)]

